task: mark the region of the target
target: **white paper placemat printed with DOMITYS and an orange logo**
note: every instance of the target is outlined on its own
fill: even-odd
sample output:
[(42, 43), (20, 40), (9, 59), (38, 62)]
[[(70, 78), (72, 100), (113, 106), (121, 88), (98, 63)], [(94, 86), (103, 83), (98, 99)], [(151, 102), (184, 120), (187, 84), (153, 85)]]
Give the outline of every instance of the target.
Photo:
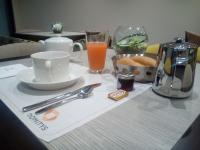
[[(28, 88), (19, 82), (16, 77), (0, 80), (1, 100), (12, 112), (38, 137), (47, 142), (58, 138), (65, 133), (80, 127), (99, 115), (133, 100), (135, 96), (143, 93), (151, 85), (135, 83), (135, 90), (129, 92), (129, 96), (121, 101), (113, 101), (107, 98), (107, 94), (116, 90), (117, 81), (111, 74), (89, 74), (86, 67), (70, 64), (81, 71), (83, 75), (74, 86), (58, 91), (39, 91)], [(52, 98), (67, 91), (72, 91), (84, 85), (101, 82), (102, 85), (95, 88), (93, 95), (53, 109), (51, 112), (35, 115), (35, 111), (23, 113), (23, 106)]]

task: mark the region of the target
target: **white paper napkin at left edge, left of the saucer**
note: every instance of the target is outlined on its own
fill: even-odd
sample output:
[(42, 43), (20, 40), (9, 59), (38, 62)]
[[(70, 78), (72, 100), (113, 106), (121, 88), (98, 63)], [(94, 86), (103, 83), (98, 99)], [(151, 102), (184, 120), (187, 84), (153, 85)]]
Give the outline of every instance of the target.
[(0, 79), (16, 76), (19, 71), (26, 68), (27, 67), (22, 64), (14, 64), (0, 67)]

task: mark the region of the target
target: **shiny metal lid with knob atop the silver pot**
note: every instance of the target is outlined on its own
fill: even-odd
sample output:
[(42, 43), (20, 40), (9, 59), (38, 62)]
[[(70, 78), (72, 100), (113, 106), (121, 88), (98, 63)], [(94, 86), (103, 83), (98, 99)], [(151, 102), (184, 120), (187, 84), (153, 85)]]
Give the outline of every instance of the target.
[(183, 38), (175, 38), (175, 42), (165, 43), (164, 47), (172, 48), (176, 51), (185, 51), (187, 49), (196, 49), (198, 46), (193, 43), (185, 42)]

